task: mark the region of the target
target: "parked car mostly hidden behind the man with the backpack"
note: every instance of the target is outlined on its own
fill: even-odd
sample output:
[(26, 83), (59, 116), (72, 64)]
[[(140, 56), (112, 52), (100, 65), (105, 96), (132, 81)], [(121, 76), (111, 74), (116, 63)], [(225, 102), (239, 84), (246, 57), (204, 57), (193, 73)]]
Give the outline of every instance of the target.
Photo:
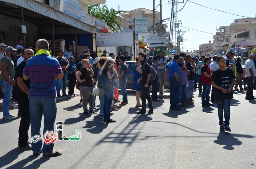
[[(135, 65), (136, 65), (136, 61), (126, 61), (125, 63), (127, 65), (126, 87), (127, 88), (132, 88), (132, 81), (133, 81), (134, 68), (135, 68)], [(166, 88), (168, 88), (170, 86), (168, 76), (166, 76), (166, 79), (164, 81), (164, 86)]]

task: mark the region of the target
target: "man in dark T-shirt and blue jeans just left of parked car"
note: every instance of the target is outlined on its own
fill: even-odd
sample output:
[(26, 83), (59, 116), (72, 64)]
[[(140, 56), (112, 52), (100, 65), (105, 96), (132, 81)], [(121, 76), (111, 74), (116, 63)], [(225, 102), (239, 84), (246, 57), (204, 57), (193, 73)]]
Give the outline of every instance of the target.
[(119, 88), (121, 89), (122, 96), (123, 96), (123, 102), (120, 104), (121, 106), (124, 106), (128, 104), (127, 100), (127, 91), (126, 91), (126, 73), (127, 73), (127, 65), (125, 63), (125, 57), (120, 56), (119, 61), (121, 63), (118, 79), (119, 79)]

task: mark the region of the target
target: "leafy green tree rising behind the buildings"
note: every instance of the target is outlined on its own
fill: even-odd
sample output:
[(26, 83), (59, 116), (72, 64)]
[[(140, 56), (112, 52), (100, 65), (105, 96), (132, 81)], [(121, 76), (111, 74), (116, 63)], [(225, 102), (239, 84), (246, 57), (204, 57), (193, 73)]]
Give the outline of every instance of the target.
[[(118, 6), (119, 8), (119, 6)], [(103, 4), (100, 5), (89, 5), (88, 6), (88, 13), (100, 20), (103, 20), (107, 23), (107, 26), (112, 29), (114, 32), (118, 32), (118, 30), (121, 30), (121, 20), (118, 21), (118, 14), (126, 12), (122, 10), (115, 10), (111, 8), (108, 9), (108, 5)]]

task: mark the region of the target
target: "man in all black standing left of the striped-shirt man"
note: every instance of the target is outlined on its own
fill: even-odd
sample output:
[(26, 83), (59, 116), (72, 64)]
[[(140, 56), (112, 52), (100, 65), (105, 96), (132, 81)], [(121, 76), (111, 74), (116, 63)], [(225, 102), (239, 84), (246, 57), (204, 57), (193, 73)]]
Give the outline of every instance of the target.
[(19, 150), (32, 150), (30, 144), (28, 144), (28, 129), (30, 126), (30, 116), (29, 116), (29, 89), (30, 89), (30, 79), (23, 79), (23, 69), (26, 62), (30, 57), (34, 56), (34, 51), (32, 49), (25, 49), (22, 51), (22, 57), (24, 60), (15, 68), (15, 76), (17, 79), (17, 100), (19, 104), (21, 114), (20, 127), (19, 127), (19, 139), (18, 139), (18, 149)]

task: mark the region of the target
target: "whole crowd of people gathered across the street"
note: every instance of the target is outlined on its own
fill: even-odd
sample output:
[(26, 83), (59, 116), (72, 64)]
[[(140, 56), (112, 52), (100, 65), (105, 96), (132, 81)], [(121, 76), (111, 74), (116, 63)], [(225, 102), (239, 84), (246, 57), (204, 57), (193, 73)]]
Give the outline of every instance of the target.
[[(110, 118), (110, 112), (118, 110), (114, 107), (114, 102), (119, 102), (118, 89), (122, 94), (120, 105), (128, 104), (125, 63), (131, 60), (128, 52), (125, 55), (118, 53), (117, 57), (114, 53), (109, 53), (107, 57), (107, 51), (104, 51), (101, 57), (97, 57), (88, 49), (83, 51), (80, 62), (76, 64), (70, 48), (66, 52), (64, 49), (59, 49), (58, 57), (52, 57), (49, 52), (49, 43), (45, 39), (36, 41), (35, 53), (32, 48), (23, 48), (21, 40), (16, 48), (18, 49), (0, 43), (0, 85), (4, 94), (4, 120), (12, 120), (14, 117), (9, 113), (12, 94), (18, 100), (18, 116), (21, 116), (18, 130), (20, 150), (32, 149), (33, 155), (43, 153), (44, 157), (62, 155), (60, 151), (53, 149), (53, 143), (43, 145), (42, 140), (39, 140), (36, 143), (33, 142), (31, 146), (28, 142), (28, 130), (31, 124), (31, 136), (40, 135), (42, 115), (44, 115), (44, 133), (47, 130), (54, 131), (57, 113), (56, 98), (73, 95), (74, 87), (80, 90), (80, 103), (84, 115), (97, 114), (94, 108), (96, 95), (99, 97), (99, 117), (106, 123), (116, 122)], [(231, 132), (230, 100), (233, 98), (233, 92), (237, 91), (239, 86), (240, 90), (247, 90), (246, 100), (256, 99), (253, 96), (253, 89), (256, 87), (254, 86), (256, 84), (255, 55), (253, 53), (249, 55), (244, 70), (240, 64), (241, 58), (234, 58), (234, 55), (230, 51), (224, 56), (215, 55), (210, 58), (209, 55), (196, 57), (181, 53), (166, 58), (160, 51), (157, 56), (149, 57), (147, 61), (146, 53), (138, 53), (135, 58), (132, 83), (132, 89), (136, 90), (136, 107), (141, 108), (137, 113), (147, 112), (146, 100), (148, 113), (154, 113), (153, 102), (160, 101), (158, 93), (164, 94), (164, 81), (167, 75), (170, 84), (171, 111), (179, 111), (194, 104), (193, 92), (198, 88), (202, 107), (213, 106), (216, 102), (220, 131)], [(67, 81), (68, 95), (66, 94)], [(152, 95), (150, 96), (151, 85)], [(93, 94), (96, 88), (99, 88), (100, 94)]]

